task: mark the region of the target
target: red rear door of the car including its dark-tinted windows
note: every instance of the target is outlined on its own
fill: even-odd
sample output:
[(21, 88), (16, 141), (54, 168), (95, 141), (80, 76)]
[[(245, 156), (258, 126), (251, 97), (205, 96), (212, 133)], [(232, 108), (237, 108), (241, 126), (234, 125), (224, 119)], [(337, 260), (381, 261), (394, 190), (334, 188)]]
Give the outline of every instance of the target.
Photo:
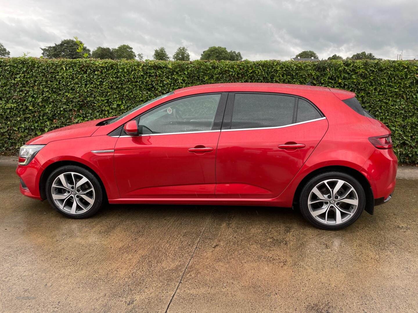
[(275, 198), (328, 128), (309, 101), (276, 93), (229, 93), (216, 159), (217, 198)]

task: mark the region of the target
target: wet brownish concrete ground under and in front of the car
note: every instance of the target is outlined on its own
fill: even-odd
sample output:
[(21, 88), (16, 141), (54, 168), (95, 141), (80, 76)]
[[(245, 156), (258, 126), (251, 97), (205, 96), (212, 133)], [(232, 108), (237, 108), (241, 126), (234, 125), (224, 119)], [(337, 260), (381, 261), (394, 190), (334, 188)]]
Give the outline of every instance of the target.
[(71, 220), (21, 195), (15, 162), (0, 161), (0, 312), (418, 311), (416, 169), (375, 215), (332, 232), (264, 207), (112, 205)]

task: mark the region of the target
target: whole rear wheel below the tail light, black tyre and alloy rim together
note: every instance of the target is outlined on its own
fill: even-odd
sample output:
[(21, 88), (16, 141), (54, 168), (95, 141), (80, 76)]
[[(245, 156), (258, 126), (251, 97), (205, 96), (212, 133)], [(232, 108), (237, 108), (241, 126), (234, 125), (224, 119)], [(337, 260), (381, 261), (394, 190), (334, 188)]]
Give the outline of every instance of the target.
[(299, 197), (303, 217), (324, 230), (339, 230), (354, 223), (365, 205), (362, 185), (343, 172), (316, 175), (305, 184)]

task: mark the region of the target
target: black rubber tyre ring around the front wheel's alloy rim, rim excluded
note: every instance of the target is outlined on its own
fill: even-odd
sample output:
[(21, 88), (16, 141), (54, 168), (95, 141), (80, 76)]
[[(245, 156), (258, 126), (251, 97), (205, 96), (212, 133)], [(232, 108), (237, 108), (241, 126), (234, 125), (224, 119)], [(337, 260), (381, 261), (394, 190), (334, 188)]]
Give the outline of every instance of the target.
[[(75, 173), (82, 174), (85, 177), (87, 177), (89, 181), (92, 183), (92, 186), (94, 188), (95, 199), (94, 199), (94, 203), (92, 207), (87, 212), (84, 212), (82, 214), (71, 214), (71, 213), (61, 210), (55, 204), (54, 199), (51, 196), (52, 184), (54, 180), (56, 179), (56, 177), (66, 172), (75, 172)], [(82, 219), (82, 218), (86, 218), (86, 217), (90, 217), (94, 215), (100, 209), (100, 207), (102, 206), (102, 202), (103, 202), (103, 191), (102, 191), (102, 186), (100, 185), (99, 180), (87, 169), (84, 169), (76, 165), (66, 165), (63, 167), (59, 167), (58, 169), (54, 170), (54, 172), (52, 172), (49, 175), (48, 179), (46, 180), (46, 198), (48, 199), (49, 204), (51, 204), (51, 206), (54, 207), (54, 209), (60, 212), (62, 215), (65, 215), (66, 217)]]

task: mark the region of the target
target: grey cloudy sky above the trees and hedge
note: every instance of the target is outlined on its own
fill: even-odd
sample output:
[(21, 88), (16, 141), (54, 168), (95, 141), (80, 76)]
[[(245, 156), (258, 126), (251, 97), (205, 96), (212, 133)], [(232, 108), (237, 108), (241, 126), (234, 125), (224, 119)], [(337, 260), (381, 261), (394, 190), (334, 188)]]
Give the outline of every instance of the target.
[(40, 47), (74, 36), (91, 50), (128, 44), (145, 58), (186, 46), (198, 59), (220, 45), (249, 60), (301, 50), (395, 60), (403, 50), (403, 59), (418, 59), (418, 1), (0, 0), (0, 42), (11, 56), (40, 56)]

